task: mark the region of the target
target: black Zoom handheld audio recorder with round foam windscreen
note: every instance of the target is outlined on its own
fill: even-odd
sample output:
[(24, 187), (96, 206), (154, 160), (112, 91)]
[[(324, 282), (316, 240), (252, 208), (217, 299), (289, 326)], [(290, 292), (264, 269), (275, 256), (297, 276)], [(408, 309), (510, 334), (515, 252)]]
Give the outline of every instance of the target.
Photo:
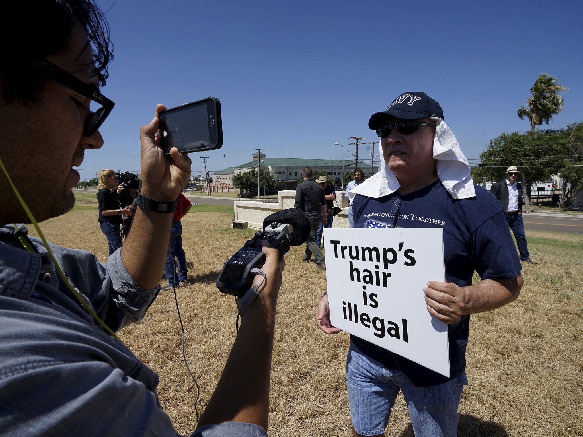
[(263, 230), (255, 232), (255, 235), (224, 263), (217, 279), (217, 288), (220, 292), (243, 298), (251, 288), (254, 274), (257, 274), (258, 269), (265, 263), (265, 254), (261, 250), (264, 240), (278, 249), (281, 259), (289, 251), (290, 246), (304, 244), (309, 235), (310, 220), (300, 209), (284, 209), (265, 217)]

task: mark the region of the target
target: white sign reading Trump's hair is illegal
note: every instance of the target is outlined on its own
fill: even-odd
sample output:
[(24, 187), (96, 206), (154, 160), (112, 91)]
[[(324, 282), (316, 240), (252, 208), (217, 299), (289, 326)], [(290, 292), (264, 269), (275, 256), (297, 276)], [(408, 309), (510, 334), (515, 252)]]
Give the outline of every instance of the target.
[(445, 282), (441, 228), (326, 229), (333, 326), (447, 377), (447, 325), (423, 288)]

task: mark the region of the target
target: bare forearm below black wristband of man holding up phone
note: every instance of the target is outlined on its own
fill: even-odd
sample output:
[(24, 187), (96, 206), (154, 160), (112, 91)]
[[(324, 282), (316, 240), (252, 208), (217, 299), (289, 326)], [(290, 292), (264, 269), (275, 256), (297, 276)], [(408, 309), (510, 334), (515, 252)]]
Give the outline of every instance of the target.
[(144, 290), (160, 283), (166, 263), (172, 214), (136, 208), (132, 231), (121, 247), (121, 260)]

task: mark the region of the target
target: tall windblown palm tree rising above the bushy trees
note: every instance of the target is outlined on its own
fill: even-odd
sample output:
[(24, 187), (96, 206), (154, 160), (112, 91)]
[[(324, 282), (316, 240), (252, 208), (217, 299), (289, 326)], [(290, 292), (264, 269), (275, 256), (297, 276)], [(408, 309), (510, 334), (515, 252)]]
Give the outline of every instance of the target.
[(540, 73), (531, 88), (532, 96), (526, 99), (526, 106), (518, 108), (518, 117), (521, 120), (528, 118), (531, 122), (531, 131), (553, 118), (553, 115), (563, 111), (563, 97), (559, 93), (568, 88), (557, 82), (557, 78), (547, 73)]

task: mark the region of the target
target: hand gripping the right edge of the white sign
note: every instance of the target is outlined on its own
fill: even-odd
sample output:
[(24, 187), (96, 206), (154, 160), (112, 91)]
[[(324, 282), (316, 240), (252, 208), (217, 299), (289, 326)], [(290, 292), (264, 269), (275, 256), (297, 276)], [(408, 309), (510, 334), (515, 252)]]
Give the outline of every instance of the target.
[(429, 281), (423, 288), (427, 311), (442, 322), (451, 325), (462, 318), (466, 294), (462, 287), (452, 282)]

